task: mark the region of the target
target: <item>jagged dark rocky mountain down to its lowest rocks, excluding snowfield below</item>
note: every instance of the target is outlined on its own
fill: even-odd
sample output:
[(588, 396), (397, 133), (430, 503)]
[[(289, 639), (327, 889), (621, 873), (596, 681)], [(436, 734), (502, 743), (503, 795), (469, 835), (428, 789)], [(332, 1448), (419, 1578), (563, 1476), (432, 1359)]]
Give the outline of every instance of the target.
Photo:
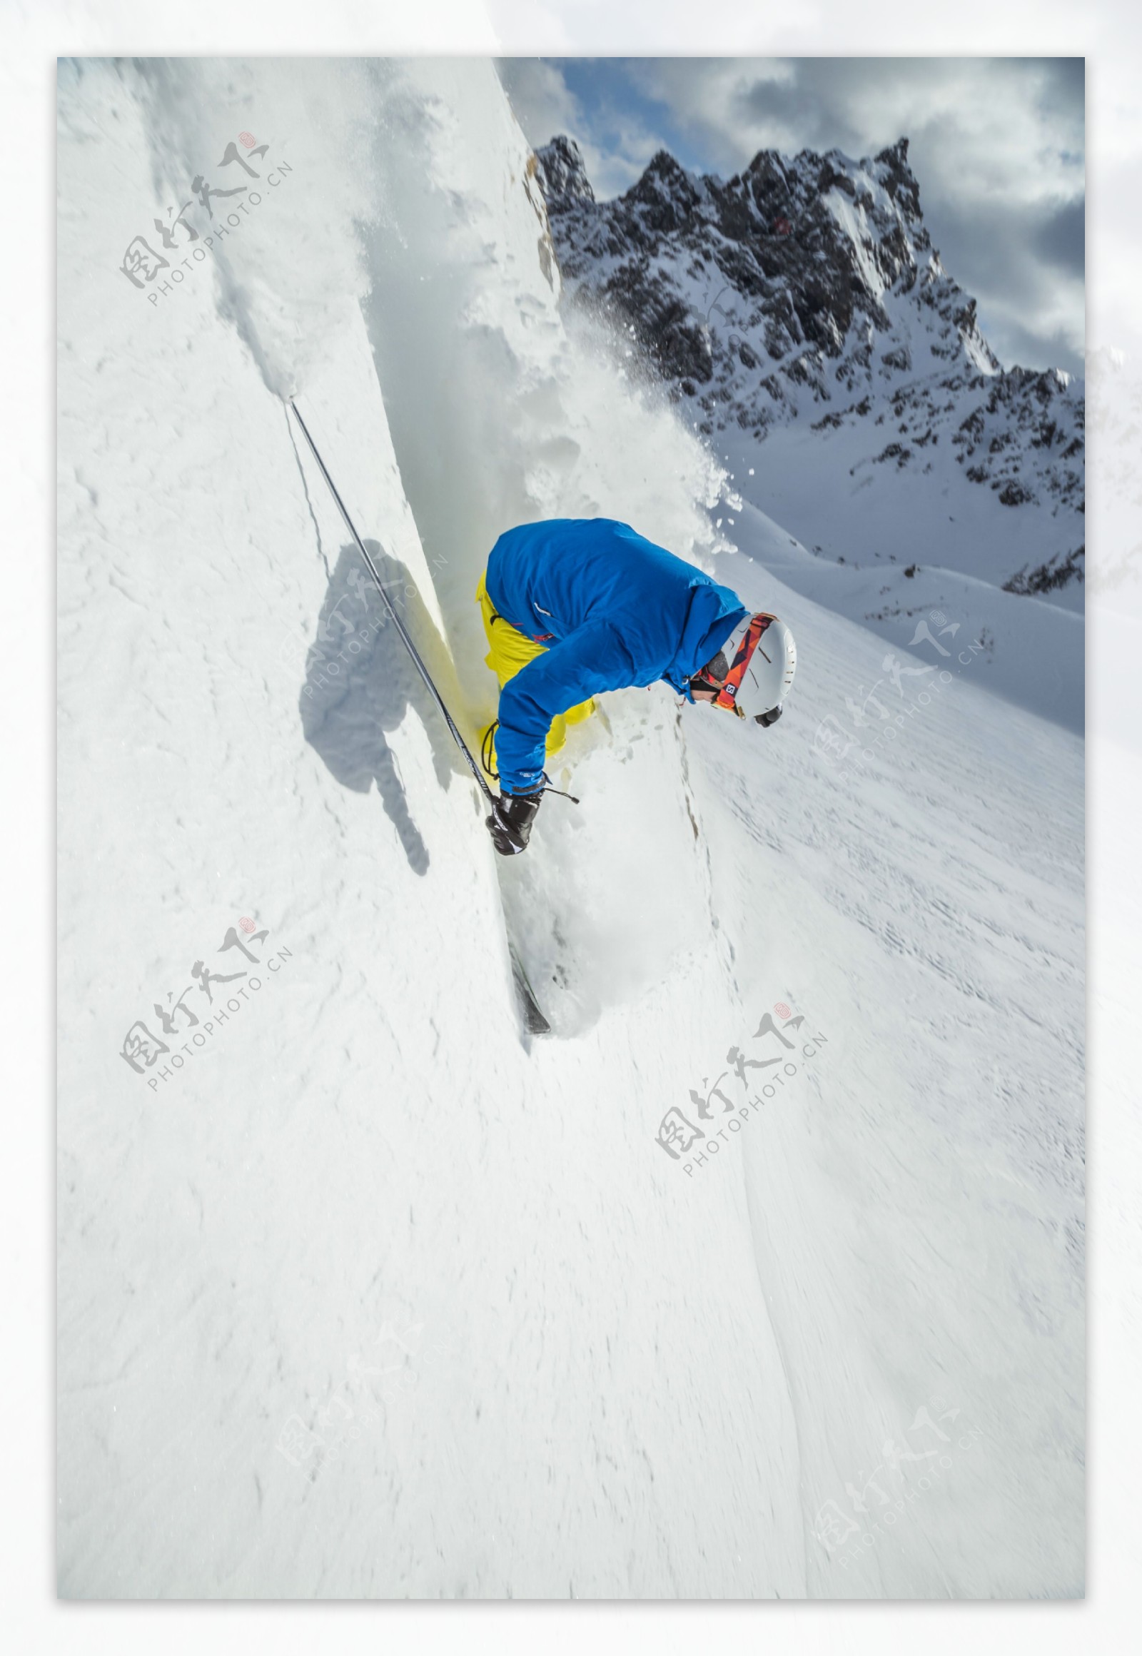
[(957, 487), (1043, 508), (1059, 535), (1069, 525), (1071, 558), (1082, 388), (1001, 368), (975, 298), (932, 247), (907, 137), (862, 161), (763, 149), (725, 181), (662, 149), (604, 202), (578, 146), (554, 137), (538, 177), (566, 301), (616, 325), (700, 432), (765, 442), (809, 427), (823, 464), (844, 450), (852, 479), (889, 460), (937, 477), (943, 444)]

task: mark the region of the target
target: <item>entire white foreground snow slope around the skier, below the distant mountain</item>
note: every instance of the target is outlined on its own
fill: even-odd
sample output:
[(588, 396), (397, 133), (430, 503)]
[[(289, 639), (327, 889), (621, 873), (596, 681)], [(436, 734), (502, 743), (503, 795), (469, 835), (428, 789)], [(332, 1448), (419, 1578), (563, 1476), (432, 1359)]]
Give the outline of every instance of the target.
[[(122, 248), (242, 132), (278, 184), (152, 305)], [(61, 68), (60, 1590), (1077, 1593), (1081, 742), (965, 666), (836, 762), (910, 633), (728, 550), (528, 159), (482, 63)], [(283, 391), (468, 732), (523, 517), (794, 624), (765, 742), (662, 687), (568, 750), (506, 891), (556, 1038)]]

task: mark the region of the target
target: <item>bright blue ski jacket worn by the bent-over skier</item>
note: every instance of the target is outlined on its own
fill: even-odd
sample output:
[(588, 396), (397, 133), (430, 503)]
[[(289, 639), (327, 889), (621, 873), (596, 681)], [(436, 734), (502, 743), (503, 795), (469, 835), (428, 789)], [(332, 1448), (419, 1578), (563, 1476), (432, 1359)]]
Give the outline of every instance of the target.
[(614, 518), (548, 518), (500, 535), (485, 575), (497, 611), (541, 656), (500, 691), (495, 747), (505, 793), (543, 785), (556, 714), (599, 691), (689, 679), (750, 611), (728, 586)]

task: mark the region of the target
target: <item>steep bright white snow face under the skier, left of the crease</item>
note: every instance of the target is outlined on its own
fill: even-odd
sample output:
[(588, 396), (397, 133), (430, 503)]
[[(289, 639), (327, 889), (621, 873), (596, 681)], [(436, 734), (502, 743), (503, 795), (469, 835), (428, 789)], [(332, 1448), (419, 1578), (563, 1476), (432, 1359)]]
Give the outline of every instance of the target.
[[(230, 199), (223, 240), (187, 214), (182, 280), (132, 262), (142, 286), (127, 238), (187, 200), (156, 182), (169, 123), (137, 70), (61, 75), (61, 1591), (794, 1596), (798, 1434), (745, 1191), (695, 1224), (655, 1139), (740, 1017), (670, 700), (617, 697), (581, 815), (545, 806), (516, 909), (563, 1038), (528, 1050), (482, 803), (275, 394), (296, 389), (470, 734), (442, 611), (458, 628), (473, 608), (513, 490), (588, 505), (629, 479), (617, 507), (713, 538), (692, 436), (601, 359), (576, 379), (492, 68), (407, 73), (361, 89), (333, 65), (192, 66), (187, 104), (217, 128), (190, 177), (240, 187), (218, 162), (247, 132), (270, 146), (247, 151), (262, 202)], [(331, 192), (369, 166), (362, 111), (410, 202), (362, 184), (331, 227)], [(485, 369), (482, 412), (503, 399), (495, 426), (453, 404), (435, 429), (424, 535), (357, 305), (354, 219), (377, 207), (424, 255), (412, 288), (437, 273), (447, 296), (470, 258), (485, 283), (397, 320), (424, 328), (425, 383)], [(308, 273), (293, 321), (278, 303), (306, 230), (339, 238), (314, 336)], [(207, 233), (228, 270), (194, 260)], [(397, 412), (405, 392), (394, 373)], [(647, 442), (685, 472), (672, 498), (634, 464)], [(467, 568), (437, 608), (442, 523), (467, 525)]]

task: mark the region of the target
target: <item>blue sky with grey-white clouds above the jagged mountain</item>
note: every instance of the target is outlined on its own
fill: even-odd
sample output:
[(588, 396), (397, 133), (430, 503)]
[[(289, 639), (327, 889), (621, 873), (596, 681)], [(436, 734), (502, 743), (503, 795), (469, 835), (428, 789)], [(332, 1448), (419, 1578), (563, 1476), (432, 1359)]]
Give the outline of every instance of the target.
[(574, 137), (596, 195), (655, 149), (728, 177), (758, 149), (861, 157), (907, 136), (945, 268), (1005, 366), (1082, 373), (1081, 58), (506, 58), (531, 144)]

